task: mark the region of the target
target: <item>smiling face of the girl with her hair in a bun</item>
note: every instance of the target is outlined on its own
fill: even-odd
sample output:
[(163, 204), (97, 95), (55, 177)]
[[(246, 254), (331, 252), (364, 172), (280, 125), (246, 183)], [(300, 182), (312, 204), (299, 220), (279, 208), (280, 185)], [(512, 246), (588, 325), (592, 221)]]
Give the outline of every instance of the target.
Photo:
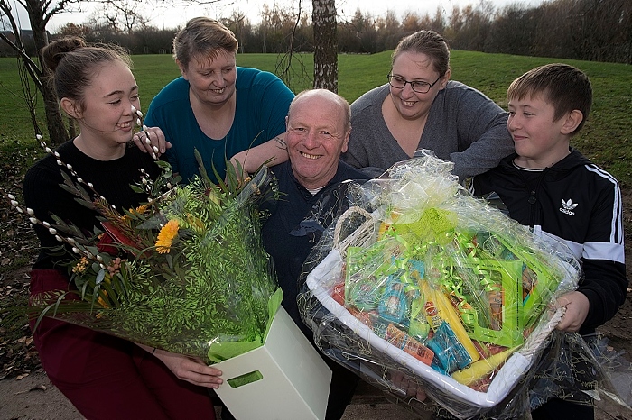
[(82, 99), (62, 98), (60, 105), (79, 122), (78, 142), (87, 146), (82, 150), (98, 156), (111, 155), (108, 150), (125, 150), (136, 121), (132, 106), (141, 106), (134, 75), (122, 61), (98, 65)]

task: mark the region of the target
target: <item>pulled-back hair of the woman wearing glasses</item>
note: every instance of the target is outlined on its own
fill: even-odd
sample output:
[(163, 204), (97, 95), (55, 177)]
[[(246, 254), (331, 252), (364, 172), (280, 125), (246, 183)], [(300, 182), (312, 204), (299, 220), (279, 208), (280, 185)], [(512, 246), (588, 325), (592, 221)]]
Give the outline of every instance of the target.
[(395, 59), (402, 52), (422, 53), (432, 59), (432, 67), (443, 76), (450, 69), (450, 48), (443, 37), (434, 31), (417, 31), (399, 41), (395, 50), (391, 63), (395, 63)]

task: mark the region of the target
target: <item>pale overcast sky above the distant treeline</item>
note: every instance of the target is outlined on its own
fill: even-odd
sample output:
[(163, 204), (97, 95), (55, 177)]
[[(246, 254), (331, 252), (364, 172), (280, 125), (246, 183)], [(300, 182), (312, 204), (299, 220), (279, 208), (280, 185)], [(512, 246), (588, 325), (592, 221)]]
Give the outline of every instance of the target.
[[(525, 6), (533, 6), (541, 3), (542, 0), (489, 0), (497, 9), (502, 8), (509, 4), (520, 4)], [(167, 1), (153, 2), (153, 7), (147, 7), (145, 16), (151, 19), (153, 25), (158, 28), (175, 28), (179, 25), (183, 25), (189, 19), (206, 15), (213, 18), (228, 17), (235, 9), (246, 13), (252, 23), (259, 21), (259, 12), (264, 4), (269, 7), (273, 7), (274, 3), (283, 5), (283, 7), (293, 7), (294, 10), (298, 9), (298, 0), (220, 0), (216, 4), (206, 6), (178, 6), (176, 9), (173, 7), (166, 7), (162, 5), (169, 4)], [(451, 13), (452, 7), (458, 5), (463, 7), (465, 5), (477, 5), (479, 0), (396, 0), (395, 2), (389, 2), (385, 0), (337, 0), (336, 8), (339, 15), (342, 18), (351, 18), (356, 10), (359, 8), (364, 14), (370, 13), (374, 17), (384, 16), (387, 10), (395, 12), (399, 19), (406, 12), (415, 12), (417, 14), (428, 13), (434, 15), (437, 7), (441, 5), (441, 9), (444, 14)], [(162, 5), (161, 5), (162, 4)], [(156, 6), (157, 5), (157, 6)], [(17, 5), (15, 5), (17, 9)], [(303, 2), (303, 10), (311, 13), (311, 1)], [(84, 4), (86, 12), (82, 14), (77, 13), (64, 13), (55, 16), (49, 24), (49, 31), (56, 32), (60, 26), (65, 23), (84, 23), (88, 20), (90, 14), (90, 5)], [(28, 19), (23, 18), (23, 27), (28, 27)]]

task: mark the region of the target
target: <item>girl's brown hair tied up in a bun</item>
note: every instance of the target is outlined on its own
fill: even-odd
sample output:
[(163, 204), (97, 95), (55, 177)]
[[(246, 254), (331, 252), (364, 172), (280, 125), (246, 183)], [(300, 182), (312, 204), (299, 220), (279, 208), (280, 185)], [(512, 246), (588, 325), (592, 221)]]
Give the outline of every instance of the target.
[(85, 88), (92, 83), (104, 63), (120, 61), (132, 68), (132, 60), (116, 45), (88, 45), (82, 38), (69, 36), (52, 41), (42, 49), (44, 68), (49, 70), (58, 99), (67, 97), (83, 109)]

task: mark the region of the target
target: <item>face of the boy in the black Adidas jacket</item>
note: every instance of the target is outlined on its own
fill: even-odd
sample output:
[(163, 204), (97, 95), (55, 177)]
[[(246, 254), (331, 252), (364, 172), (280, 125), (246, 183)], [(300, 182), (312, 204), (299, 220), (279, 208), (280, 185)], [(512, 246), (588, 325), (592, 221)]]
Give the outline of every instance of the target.
[(554, 121), (555, 108), (543, 95), (510, 99), (508, 109), (507, 129), (514, 139), (517, 165), (544, 169), (568, 155), (571, 114)]

